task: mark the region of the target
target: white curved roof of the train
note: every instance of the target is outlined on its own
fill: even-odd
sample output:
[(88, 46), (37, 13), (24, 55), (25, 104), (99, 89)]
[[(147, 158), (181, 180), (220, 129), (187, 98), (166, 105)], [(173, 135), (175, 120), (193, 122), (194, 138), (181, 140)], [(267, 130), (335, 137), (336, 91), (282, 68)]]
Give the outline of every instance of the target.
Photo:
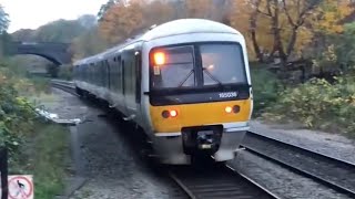
[(180, 19), (152, 28), (148, 32), (135, 36), (134, 39), (129, 39), (124, 43), (113, 46), (102, 53), (79, 60), (74, 63), (74, 65), (90, 62), (90, 60), (92, 59), (100, 60), (100, 57), (104, 57), (105, 55), (118, 52), (123, 46), (126, 46), (136, 41), (150, 41), (159, 38), (189, 33), (230, 33), (241, 35), (237, 30), (220, 22), (205, 19)]

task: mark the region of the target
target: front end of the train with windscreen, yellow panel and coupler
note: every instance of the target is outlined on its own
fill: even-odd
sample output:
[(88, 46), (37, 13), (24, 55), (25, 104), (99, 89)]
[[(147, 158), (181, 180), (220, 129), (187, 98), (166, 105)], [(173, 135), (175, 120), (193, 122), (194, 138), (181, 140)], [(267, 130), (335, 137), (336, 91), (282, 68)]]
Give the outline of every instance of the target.
[(193, 33), (175, 35), (180, 43), (160, 41), (149, 52), (149, 113), (161, 161), (233, 159), (253, 111), (244, 38)]

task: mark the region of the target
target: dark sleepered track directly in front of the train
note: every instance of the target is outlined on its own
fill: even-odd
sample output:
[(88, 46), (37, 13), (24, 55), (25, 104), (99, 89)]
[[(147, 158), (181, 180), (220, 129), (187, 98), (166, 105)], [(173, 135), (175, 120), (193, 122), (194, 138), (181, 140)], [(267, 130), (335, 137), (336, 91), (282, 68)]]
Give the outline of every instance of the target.
[(213, 164), (199, 168), (173, 168), (169, 176), (191, 199), (278, 198), (225, 165), (211, 165)]

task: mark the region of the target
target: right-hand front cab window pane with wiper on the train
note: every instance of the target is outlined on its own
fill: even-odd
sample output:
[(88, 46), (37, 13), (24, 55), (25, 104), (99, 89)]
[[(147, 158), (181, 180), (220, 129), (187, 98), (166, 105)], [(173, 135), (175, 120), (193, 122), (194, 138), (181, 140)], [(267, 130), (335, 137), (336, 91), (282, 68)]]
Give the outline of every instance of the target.
[(242, 48), (237, 44), (200, 45), (203, 85), (246, 83)]

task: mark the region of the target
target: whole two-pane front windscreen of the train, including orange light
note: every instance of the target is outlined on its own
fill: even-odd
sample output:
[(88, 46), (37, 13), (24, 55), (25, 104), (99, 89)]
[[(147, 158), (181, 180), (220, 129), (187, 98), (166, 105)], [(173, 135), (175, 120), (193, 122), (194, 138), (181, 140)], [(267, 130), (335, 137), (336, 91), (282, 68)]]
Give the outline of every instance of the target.
[(247, 83), (239, 44), (162, 48), (154, 50), (151, 59), (154, 90)]

